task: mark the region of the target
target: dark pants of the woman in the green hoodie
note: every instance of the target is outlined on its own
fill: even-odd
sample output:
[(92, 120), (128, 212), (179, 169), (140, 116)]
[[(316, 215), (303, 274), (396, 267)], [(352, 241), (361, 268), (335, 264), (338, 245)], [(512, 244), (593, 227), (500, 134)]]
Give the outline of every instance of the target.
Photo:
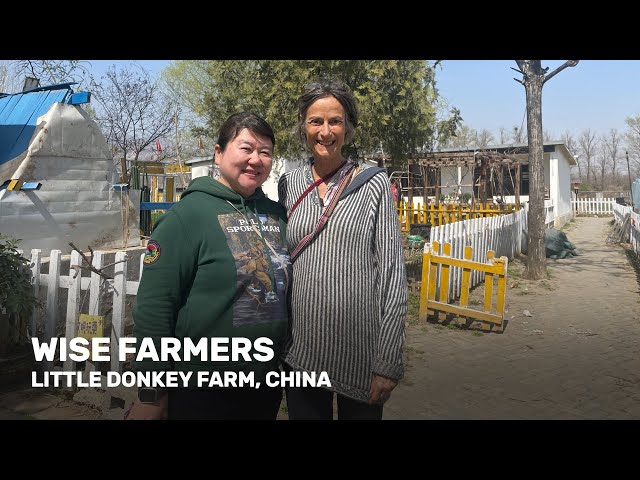
[(169, 390), (169, 420), (275, 420), (282, 388)]

